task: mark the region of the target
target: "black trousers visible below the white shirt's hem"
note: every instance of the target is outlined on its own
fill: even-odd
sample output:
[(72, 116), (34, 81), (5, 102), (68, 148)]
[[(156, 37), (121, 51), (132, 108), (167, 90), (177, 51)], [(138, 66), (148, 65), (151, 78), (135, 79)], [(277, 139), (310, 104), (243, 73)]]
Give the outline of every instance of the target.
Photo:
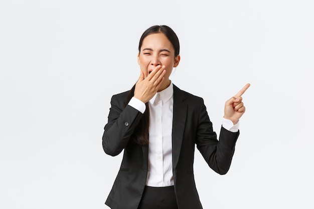
[(178, 209), (175, 186), (145, 186), (138, 209)]

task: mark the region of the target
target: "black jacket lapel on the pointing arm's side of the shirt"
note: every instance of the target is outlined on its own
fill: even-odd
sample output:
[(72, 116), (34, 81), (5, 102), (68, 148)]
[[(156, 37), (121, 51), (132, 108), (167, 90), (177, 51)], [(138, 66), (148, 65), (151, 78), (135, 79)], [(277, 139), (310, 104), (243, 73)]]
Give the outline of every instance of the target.
[(172, 125), (172, 163), (176, 168), (180, 156), (188, 106), (183, 92), (174, 85), (174, 116)]

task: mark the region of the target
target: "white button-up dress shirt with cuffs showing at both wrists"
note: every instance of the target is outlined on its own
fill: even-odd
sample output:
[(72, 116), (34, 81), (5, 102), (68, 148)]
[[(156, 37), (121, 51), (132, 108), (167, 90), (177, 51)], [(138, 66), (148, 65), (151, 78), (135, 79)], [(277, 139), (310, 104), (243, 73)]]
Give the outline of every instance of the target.
[[(128, 105), (141, 113), (145, 104), (133, 97)], [(174, 106), (174, 88), (172, 82), (165, 90), (156, 93), (148, 102), (149, 105), (149, 138), (148, 138), (148, 174), (147, 186), (174, 185), (172, 172), (172, 122)], [(237, 132), (239, 122), (223, 118), (222, 126)]]

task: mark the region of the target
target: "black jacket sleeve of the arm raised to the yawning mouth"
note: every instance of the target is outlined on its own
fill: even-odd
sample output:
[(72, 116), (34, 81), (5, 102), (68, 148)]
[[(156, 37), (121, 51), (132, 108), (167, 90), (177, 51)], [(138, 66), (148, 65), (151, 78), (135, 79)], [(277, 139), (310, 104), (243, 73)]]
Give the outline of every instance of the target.
[(108, 123), (104, 127), (102, 147), (106, 154), (118, 155), (129, 142), (142, 113), (127, 105), (117, 95), (111, 98)]

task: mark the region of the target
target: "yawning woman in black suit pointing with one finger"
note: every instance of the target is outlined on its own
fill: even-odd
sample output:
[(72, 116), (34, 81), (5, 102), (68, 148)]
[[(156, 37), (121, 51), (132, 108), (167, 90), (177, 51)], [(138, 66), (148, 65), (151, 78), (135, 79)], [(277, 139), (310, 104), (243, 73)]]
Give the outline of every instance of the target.
[(203, 99), (169, 79), (179, 65), (179, 52), (171, 28), (147, 29), (138, 46), (138, 81), (111, 98), (103, 149), (112, 156), (124, 149), (106, 200), (112, 209), (202, 208), (193, 174), (195, 144), (217, 173), (230, 167), (238, 121), (245, 112), (241, 95), (249, 84), (226, 102), (218, 141)]

